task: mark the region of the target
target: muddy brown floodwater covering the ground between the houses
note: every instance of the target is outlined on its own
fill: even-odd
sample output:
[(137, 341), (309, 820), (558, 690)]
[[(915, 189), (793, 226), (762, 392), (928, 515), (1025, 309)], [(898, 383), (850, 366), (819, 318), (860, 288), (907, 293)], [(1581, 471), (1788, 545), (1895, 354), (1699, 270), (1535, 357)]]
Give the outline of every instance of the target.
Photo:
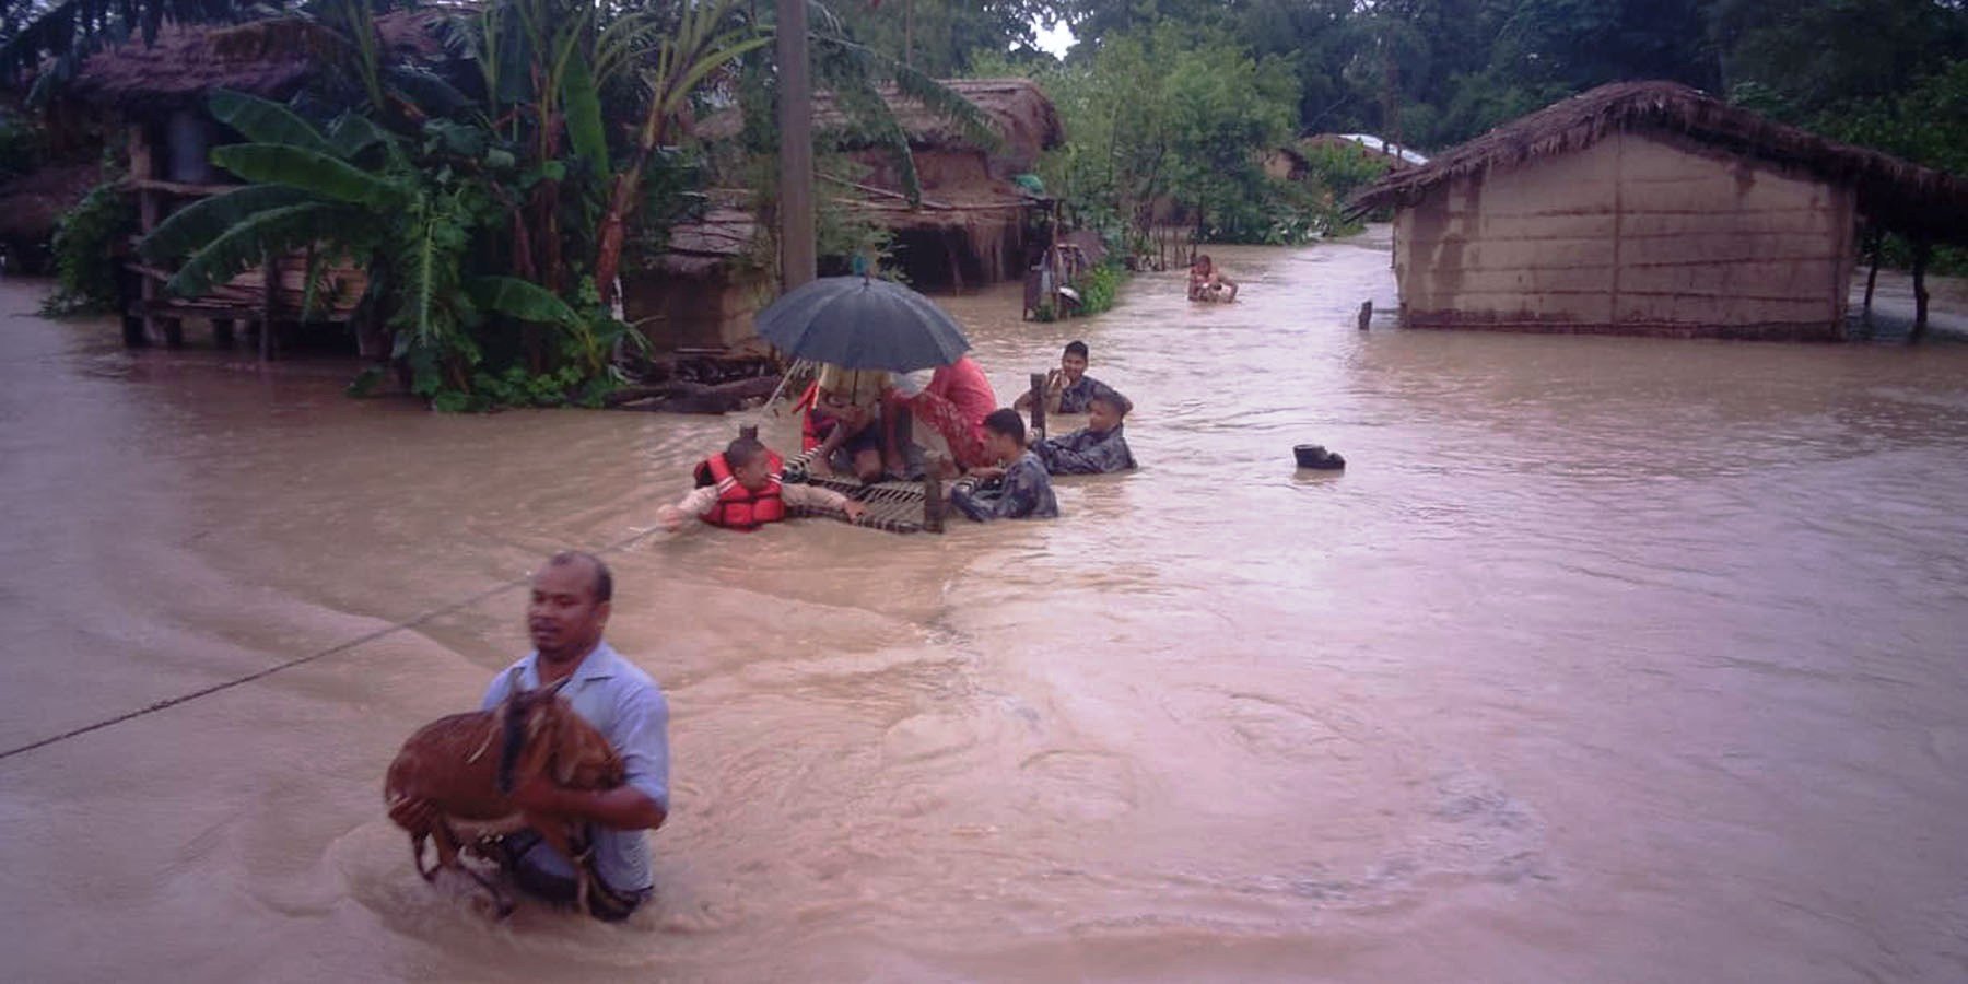
[(624, 927), (425, 886), (380, 779), (523, 651), (500, 584), (740, 421), (352, 401), (0, 283), (0, 750), (344, 646), (0, 758), (8, 978), (1968, 976), (1968, 346), (1360, 333), (1385, 252), (1220, 254), (1240, 305), (951, 301), (1006, 400), (1080, 337), (1139, 407), (1059, 522), (608, 555), (675, 712)]

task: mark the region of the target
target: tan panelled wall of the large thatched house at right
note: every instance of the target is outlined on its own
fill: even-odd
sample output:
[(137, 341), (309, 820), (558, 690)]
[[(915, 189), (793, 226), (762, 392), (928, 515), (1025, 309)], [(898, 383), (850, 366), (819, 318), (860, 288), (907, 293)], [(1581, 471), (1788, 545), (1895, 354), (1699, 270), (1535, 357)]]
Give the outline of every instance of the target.
[(1395, 216), (1411, 327), (1838, 338), (1852, 189), (1643, 134), (1439, 185)]

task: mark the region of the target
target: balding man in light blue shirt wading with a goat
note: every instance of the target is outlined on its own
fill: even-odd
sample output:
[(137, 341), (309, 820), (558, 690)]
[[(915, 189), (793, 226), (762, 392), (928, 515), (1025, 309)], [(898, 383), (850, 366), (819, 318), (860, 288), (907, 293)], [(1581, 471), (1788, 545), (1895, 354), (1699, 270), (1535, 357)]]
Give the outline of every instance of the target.
[[(608, 602), (614, 579), (588, 553), (559, 553), (533, 575), (533, 598), (525, 628), (533, 653), (500, 673), (482, 707), (496, 708), (508, 697), (537, 687), (559, 687), (559, 699), (573, 705), (622, 758), (624, 781), (612, 789), (557, 785), (551, 775), (531, 775), (510, 793), (525, 815), (565, 817), (590, 827), (590, 850), (583, 860), (567, 858), (537, 830), (520, 830), (492, 840), (484, 854), (512, 874), (520, 890), (557, 903), (577, 903), (586, 866), (588, 913), (598, 919), (626, 919), (649, 897), (649, 844), (644, 830), (663, 825), (669, 813), (669, 703), (640, 667), (606, 642)], [(394, 819), (413, 834), (443, 821), (425, 799), (405, 799), (390, 807)]]

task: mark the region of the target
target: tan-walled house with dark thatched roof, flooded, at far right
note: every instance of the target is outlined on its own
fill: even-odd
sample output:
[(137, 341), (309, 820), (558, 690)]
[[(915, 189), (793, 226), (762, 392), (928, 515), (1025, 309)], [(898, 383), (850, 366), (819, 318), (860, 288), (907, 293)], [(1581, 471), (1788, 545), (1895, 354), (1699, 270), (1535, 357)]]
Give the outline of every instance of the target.
[(1862, 222), (1968, 230), (1962, 181), (1673, 83), (1572, 96), (1354, 199), (1385, 207), (1417, 329), (1840, 338)]

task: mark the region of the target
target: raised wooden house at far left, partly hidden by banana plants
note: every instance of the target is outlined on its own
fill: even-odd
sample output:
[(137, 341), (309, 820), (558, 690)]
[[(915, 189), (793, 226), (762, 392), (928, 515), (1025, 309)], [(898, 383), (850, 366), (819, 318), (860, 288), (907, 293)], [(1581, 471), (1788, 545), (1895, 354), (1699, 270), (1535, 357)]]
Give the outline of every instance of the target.
[[(433, 18), (388, 14), (376, 18), (384, 57), (441, 57), (443, 45), (429, 31)], [(132, 39), (91, 55), (59, 94), (53, 112), (87, 112), (110, 118), (128, 146), (126, 189), (138, 205), (138, 238), (185, 205), (230, 191), (234, 179), (211, 163), (211, 150), (238, 140), (207, 110), (218, 91), (287, 100), (323, 71), (309, 47), (309, 33), (281, 30), (281, 22), (244, 26), (167, 24), (154, 43)], [(144, 264), (134, 250), (124, 268), (124, 340), (130, 344), (181, 344), (185, 321), (209, 321), (220, 344), (232, 342), (236, 323), (293, 323), (307, 297), (307, 258), (276, 256), (266, 270), (240, 274), (203, 297), (165, 291), (173, 270)], [(272, 291), (268, 291), (272, 283)], [(366, 289), (364, 270), (331, 266), (325, 291), (313, 297), (311, 321), (346, 323)], [(317, 283), (319, 287), (321, 283)], [(262, 354), (272, 352), (272, 331), (260, 331)], [(364, 352), (386, 346), (376, 331), (358, 333)]]

